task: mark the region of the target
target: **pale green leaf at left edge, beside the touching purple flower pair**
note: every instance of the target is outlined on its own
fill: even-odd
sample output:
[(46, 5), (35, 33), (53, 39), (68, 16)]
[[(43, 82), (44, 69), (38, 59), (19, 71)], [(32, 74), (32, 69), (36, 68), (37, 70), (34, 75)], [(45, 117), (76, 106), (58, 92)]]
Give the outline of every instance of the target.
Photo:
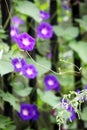
[(0, 60), (0, 74), (1, 76), (13, 72), (14, 68), (9, 60)]

